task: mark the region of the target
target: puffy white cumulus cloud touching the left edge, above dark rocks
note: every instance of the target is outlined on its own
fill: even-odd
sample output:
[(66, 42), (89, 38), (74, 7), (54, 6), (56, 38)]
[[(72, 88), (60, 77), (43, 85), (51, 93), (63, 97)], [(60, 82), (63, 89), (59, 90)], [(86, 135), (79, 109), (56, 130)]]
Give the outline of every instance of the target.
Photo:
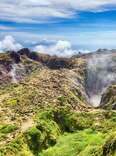
[(19, 50), (23, 46), (15, 41), (12, 36), (5, 36), (5, 38), (0, 41), (0, 51), (8, 51), (8, 50)]

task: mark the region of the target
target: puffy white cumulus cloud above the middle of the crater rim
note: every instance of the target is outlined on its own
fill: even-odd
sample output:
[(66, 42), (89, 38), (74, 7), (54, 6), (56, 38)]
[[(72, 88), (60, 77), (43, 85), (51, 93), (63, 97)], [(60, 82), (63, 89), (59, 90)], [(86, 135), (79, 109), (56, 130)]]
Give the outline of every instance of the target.
[(34, 51), (50, 54), (50, 55), (57, 55), (57, 56), (67, 56), (70, 57), (77, 53), (76, 50), (72, 49), (71, 43), (69, 41), (62, 41), (59, 40), (52, 45), (37, 45), (33, 49)]

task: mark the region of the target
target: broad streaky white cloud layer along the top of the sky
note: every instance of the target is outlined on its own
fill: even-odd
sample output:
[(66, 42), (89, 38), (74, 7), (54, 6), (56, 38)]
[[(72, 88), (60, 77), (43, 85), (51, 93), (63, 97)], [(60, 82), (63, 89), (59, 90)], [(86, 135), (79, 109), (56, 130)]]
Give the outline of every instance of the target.
[(1, 0), (0, 19), (26, 23), (46, 22), (54, 17), (74, 17), (78, 11), (111, 9), (108, 5), (116, 6), (116, 0)]

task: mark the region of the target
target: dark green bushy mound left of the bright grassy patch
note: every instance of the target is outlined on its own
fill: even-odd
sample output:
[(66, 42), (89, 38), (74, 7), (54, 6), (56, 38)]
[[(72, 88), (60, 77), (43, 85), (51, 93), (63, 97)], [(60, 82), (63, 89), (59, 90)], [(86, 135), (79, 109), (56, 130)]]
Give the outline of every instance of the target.
[(50, 119), (51, 115), (50, 112), (40, 113), (36, 119), (36, 126), (29, 129), (25, 134), (27, 144), (34, 154), (55, 145), (60, 135), (60, 128), (55, 121)]

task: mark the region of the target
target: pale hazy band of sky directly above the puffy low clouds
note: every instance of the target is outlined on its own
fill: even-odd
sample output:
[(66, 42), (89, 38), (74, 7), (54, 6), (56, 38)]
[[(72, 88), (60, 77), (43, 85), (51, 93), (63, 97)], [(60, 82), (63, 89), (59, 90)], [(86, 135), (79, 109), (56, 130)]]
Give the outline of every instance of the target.
[[(72, 47), (74, 49), (78, 49), (78, 51), (95, 51), (99, 48), (107, 48), (107, 49), (116, 49), (116, 31), (105, 31), (100, 29), (99, 31), (82, 31), (82, 32), (74, 32), (67, 31), (67, 33), (63, 34), (63, 29), (58, 33), (38, 33), (38, 32), (25, 32), (25, 31), (9, 31), (9, 32), (0, 32), (0, 40), (3, 39), (4, 36), (8, 34), (13, 36), (15, 39), (18, 39), (20, 43), (25, 45), (26, 47), (32, 47), (33, 45), (43, 45), (43, 42), (46, 40), (51, 43), (57, 42), (59, 40), (70, 41)], [(43, 41), (41, 43), (41, 41)], [(45, 41), (45, 42), (46, 42)], [(33, 44), (32, 44), (33, 43)], [(34, 44), (35, 43), (35, 44)], [(87, 51), (88, 52), (88, 51)]]

